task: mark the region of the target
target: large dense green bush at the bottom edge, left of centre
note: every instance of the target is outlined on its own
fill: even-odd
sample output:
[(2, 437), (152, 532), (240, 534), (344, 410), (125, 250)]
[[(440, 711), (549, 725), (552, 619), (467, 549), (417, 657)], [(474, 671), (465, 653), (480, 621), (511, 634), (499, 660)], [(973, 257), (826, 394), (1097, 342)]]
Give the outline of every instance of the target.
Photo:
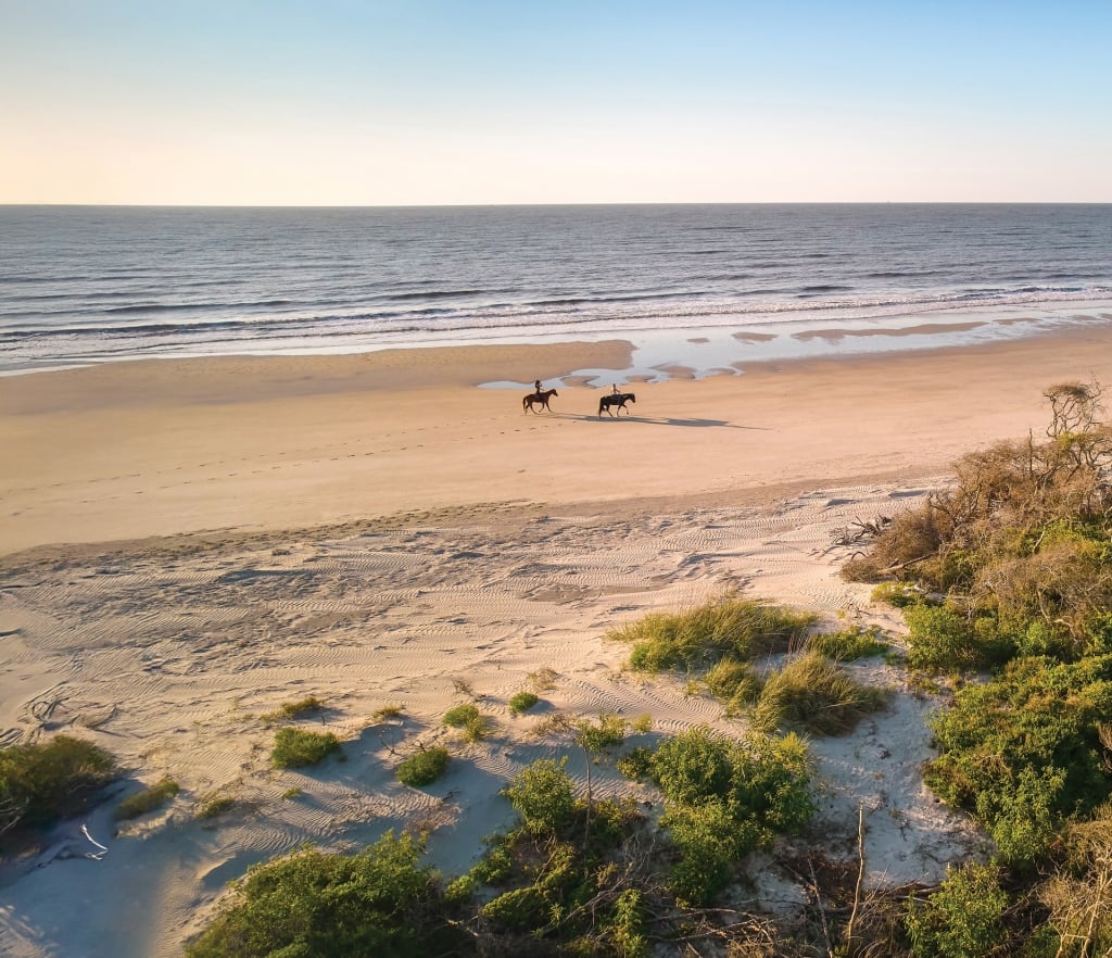
[(465, 954), (420, 846), (387, 832), (358, 855), (299, 851), (237, 882), (188, 958), (424, 958)]

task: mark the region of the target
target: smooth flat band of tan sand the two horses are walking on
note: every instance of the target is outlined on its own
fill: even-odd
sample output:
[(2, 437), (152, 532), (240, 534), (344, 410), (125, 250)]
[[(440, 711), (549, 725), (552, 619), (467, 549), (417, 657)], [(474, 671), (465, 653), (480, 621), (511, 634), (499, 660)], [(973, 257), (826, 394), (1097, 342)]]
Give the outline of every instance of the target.
[[(576, 372), (622, 340), (141, 361), (0, 379), (0, 555), (205, 530), (311, 527), (476, 503), (617, 503), (945, 473), (1100, 379), (1112, 328), (795, 359), (635, 383), (620, 421)], [(484, 383), (557, 381), (552, 414)], [(564, 385), (570, 383), (570, 385)], [(608, 383), (607, 383), (608, 385)]]

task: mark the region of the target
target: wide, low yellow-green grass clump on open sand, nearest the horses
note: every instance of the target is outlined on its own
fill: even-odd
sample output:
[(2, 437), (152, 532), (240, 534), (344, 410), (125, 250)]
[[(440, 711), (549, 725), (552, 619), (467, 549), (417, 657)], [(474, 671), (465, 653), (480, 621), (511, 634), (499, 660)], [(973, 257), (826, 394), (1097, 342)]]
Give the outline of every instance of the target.
[(707, 669), (726, 655), (745, 661), (786, 650), (814, 621), (814, 615), (725, 597), (689, 612), (656, 612), (605, 638), (632, 644), (629, 664), (641, 672)]

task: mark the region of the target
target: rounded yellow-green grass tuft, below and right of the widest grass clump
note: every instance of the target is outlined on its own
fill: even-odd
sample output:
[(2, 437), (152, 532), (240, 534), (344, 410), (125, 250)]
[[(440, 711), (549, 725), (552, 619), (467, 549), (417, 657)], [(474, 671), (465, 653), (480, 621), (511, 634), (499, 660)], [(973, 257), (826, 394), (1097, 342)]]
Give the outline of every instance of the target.
[(884, 692), (862, 685), (818, 652), (807, 652), (774, 672), (753, 709), (753, 728), (772, 733), (794, 728), (842, 735), (884, 707)]

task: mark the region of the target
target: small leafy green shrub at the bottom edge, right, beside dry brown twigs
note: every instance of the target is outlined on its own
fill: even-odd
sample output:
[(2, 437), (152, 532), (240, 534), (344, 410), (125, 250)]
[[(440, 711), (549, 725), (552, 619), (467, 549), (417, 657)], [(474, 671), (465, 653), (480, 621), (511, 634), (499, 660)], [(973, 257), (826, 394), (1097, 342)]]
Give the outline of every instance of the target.
[(971, 862), (951, 871), (925, 903), (909, 899), (915, 958), (984, 958), (1004, 940), (1006, 906), (994, 868)]

